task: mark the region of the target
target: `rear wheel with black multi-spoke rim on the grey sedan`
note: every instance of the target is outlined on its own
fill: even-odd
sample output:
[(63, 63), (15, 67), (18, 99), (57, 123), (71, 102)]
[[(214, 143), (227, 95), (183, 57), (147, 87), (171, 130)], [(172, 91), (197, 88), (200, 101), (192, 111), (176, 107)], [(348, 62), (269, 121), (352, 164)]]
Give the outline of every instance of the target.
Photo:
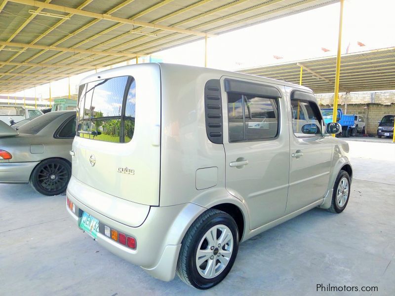
[(49, 158), (35, 167), (30, 177), (30, 184), (41, 194), (58, 195), (66, 191), (70, 177), (69, 162), (61, 158)]

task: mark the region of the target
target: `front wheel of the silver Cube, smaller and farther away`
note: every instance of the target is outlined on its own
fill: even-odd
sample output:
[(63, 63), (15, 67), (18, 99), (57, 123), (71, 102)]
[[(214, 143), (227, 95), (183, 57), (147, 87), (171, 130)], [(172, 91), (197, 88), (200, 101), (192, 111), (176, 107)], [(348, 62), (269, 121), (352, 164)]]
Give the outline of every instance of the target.
[(332, 202), (328, 209), (331, 213), (340, 214), (346, 208), (350, 199), (351, 180), (349, 173), (341, 170), (333, 186)]

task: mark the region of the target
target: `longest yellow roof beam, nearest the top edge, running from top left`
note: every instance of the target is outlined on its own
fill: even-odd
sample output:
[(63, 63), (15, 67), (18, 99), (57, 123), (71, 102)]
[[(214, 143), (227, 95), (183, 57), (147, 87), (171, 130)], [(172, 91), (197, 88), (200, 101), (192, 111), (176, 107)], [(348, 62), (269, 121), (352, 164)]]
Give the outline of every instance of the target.
[[(55, 4), (49, 4), (49, 3), (44, 3), (36, 0), (9, 0), (15, 3), (20, 3), (20, 4), (25, 4), (25, 5), (30, 5), (30, 6), (35, 6), (39, 8), (47, 8), (55, 11), (60, 11), (60, 12), (65, 12), (65, 13), (73, 13), (76, 15), (81, 15), (81, 16), (86, 16), (86, 17), (91, 17), (95, 19), (100, 19), (100, 20), (106, 20), (106, 21), (112, 21), (112, 22), (117, 22), (117, 23), (122, 23), (122, 24), (129, 24), (129, 25), (135, 25), (135, 26), (141, 26), (141, 27), (147, 27), (147, 28), (153, 28), (153, 29), (160, 29), (164, 31), (169, 31), (169, 32), (177, 32), (181, 34), (187, 34), (187, 35), (195, 35), (195, 36), (206, 36), (206, 33), (204, 32), (197, 32), (197, 31), (192, 31), (192, 30), (185, 30), (185, 29), (178, 29), (174, 27), (168, 27), (168, 26), (161, 26), (161, 25), (156, 25), (156, 24), (150, 24), (146, 22), (140, 22), (140, 21), (135, 21), (135, 20), (129, 20), (121, 17), (116, 17), (112, 16), (107, 13), (96, 13), (96, 12), (91, 12), (91, 11), (86, 11), (86, 10), (81, 10), (77, 8), (71, 8), (67, 6), (62, 6), (62, 5), (55, 5)], [(215, 36), (214, 34), (210, 34), (209, 37)]]

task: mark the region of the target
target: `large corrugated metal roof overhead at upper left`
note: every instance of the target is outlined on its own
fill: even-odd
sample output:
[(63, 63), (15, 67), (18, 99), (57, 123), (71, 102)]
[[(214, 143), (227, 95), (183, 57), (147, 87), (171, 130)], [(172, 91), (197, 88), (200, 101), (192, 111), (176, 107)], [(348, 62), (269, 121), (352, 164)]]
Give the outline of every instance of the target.
[[(40, 8), (37, 6), (40, 2), (105, 15), (98, 19)], [(130, 54), (149, 55), (202, 38), (114, 22), (104, 19), (106, 15), (218, 35), (334, 2), (338, 0), (3, 0), (0, 3), (0, 92), (18, 91), (60, 79), (61, 75), (66, 77), (94, 69), (89, 67), (105, 67), (130, 60)], [(33, 15), (29, 10), (70, 16), (70, 19)], [(132, 34), (130, 30), (154, 33), (157, 37)], [(16, 46), (14, 42), (27, 44), (27, 47)], [(31, 44), (103, 53), (29, 48)], [(24, 51), (4, 50), (7, 48)], [(128, 53), (129, 56), (110, 55), (110, 52)], [(41, 63), (44, 65), (37, 65)], [(53, 64), (63, 67), (49, 67)]]

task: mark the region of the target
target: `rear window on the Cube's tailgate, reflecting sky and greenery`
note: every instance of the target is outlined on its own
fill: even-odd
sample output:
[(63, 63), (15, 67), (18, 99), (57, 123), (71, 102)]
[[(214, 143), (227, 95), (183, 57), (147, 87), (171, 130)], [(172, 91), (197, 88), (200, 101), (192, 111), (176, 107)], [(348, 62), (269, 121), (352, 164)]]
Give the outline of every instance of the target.
[(77, 109), (79, 137), (127, 143), (133, 138), (136, 83), (119, 76), (82, 84)]

